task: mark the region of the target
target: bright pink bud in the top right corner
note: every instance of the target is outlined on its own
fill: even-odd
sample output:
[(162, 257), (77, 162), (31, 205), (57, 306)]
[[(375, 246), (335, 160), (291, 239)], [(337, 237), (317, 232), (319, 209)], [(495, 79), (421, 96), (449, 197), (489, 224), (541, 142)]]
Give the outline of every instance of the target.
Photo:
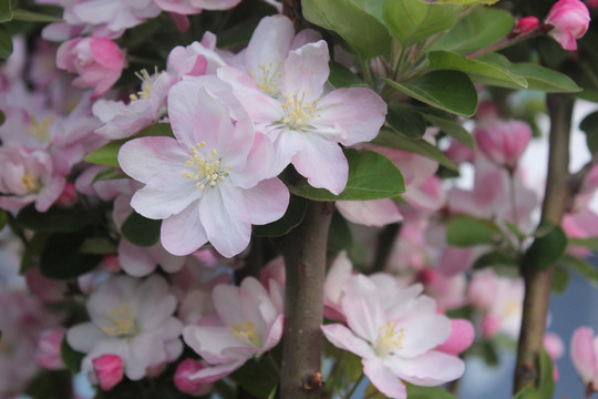
[(548, 34), (565, 50), (577, 50), (575, 40), (586, 33), (589, 21), (589, 10), (582, 1), (559, 0), (548, 12), (544, 23), (551, 27)]

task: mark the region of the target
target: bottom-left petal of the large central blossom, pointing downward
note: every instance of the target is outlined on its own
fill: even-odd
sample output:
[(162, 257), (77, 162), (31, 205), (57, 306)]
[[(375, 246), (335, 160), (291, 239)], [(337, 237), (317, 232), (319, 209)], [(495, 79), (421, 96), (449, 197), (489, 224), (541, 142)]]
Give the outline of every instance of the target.
[(193, 202), (183, 212), (162, 222), (159, 238), (164, 248), (173, 255), (189, 255), (208, 238), (199, 219), (199, 204)]

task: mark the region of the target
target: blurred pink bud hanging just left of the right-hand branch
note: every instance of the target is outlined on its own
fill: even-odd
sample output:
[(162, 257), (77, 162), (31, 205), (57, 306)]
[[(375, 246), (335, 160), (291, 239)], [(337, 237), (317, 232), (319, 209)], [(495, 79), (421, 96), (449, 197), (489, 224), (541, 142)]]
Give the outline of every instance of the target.
[(478, 126), (474, 135), (477, 146), (488, 160), (515, 168), (532, 139), (532, 129), (525, 122), (497, 120)]

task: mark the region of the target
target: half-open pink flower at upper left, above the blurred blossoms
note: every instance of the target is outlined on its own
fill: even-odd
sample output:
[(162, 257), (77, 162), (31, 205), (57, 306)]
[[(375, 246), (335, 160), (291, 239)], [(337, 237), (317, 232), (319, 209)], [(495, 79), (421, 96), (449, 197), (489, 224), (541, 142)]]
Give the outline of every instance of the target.
[(92, 88), (95, 98), (104, 94), (121, 76), (124, 68), (123, 52), (116, 43), (105, 38), (79, 38), (60, 45), (56, 65), (79, 76), (78, 88)]

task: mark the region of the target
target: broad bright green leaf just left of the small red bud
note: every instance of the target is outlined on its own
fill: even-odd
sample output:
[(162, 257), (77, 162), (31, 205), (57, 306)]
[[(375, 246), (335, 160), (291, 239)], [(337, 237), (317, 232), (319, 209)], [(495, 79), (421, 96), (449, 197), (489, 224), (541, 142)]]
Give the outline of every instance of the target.
[(434, 43), (432, 50), (467, 53), (485, 49), (506, 37), (514, 25), (515, 19), (511, 12), (478, 7)]

